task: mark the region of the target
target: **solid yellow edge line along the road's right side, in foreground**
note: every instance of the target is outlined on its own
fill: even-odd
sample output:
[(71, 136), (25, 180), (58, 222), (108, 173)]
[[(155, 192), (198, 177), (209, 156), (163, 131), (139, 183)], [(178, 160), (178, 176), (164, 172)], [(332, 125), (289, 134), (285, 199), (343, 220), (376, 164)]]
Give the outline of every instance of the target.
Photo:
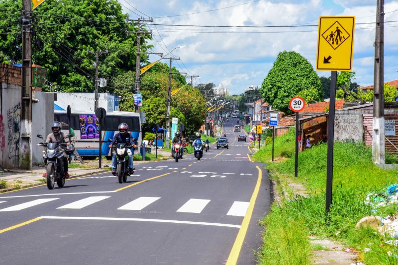
[(250, 224), (250, 219), (252, 218), (253, 214), (253, 209), (254, 209), (254, 204), (256, 203), (257, 195), (260, 190), (260, 185), (261, 185), (261, 179), (263, 172), (261, 168), (256, 166), (258, 169), (258, 178), (257, 178), (257, 184), (256, 187), (254, 188), (252, 198), (250, 199), (249, 207), (247, 208), (247, 212), (245, 217), (243, 218), (242, 225), (239, 229), (238, 235), (236, 236), (235, 243), (232, 246), (231, 252), (229, 253), (227, 263), (225, 265), (236, 265), (238, 262), (239, 254), (242, 249), (243, 241), (245, 239), (247, 229), (249, 228)]

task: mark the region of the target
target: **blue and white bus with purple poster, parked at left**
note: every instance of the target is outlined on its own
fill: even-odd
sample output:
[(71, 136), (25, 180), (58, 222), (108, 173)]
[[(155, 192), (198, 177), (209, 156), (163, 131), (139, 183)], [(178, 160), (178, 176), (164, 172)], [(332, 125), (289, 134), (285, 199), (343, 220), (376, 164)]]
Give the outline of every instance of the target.
[[(93, 119), (94, 118), (94, 119)], [(61, 123), (69, 124), (66, 116), (66, 111), (54, 111), (54, 120)], [(92, 124), (89, 124), (89, 123)], [(87, 123), (87, 124), (86, 124)], [(101, 120), (102, 131), (102, 155), (109, 158), (110, 148), (108, 138), (113, 138), (115, 133), (118, 133), (118, 126), (120, 123), (126, 123), (128, 130), (134, 138), (138, 139), (138, 146), (141, 145), (141, 120), (139, 113), (114, 111), (106, 113), (106, 117)], [(94, 112), (72, 112), (71, 113), (71, 128), (75, 132), (75, 149), (80, 156), (95, 157), (99, 156), (99, 132), (96, 132), (96, 125), (98, 120)], [(93, 125), (93, 126), (92, 126)], [(63, 128), (63, 133), (68, 133), (68, 128)], [(97, 138), (96, 138), (97, 137)]]

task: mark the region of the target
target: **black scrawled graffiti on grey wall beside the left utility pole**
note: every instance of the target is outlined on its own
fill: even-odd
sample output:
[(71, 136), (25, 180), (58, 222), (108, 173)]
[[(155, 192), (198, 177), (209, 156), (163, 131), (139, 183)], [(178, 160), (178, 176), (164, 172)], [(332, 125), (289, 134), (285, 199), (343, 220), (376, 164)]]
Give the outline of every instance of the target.
[[(8, 125), (8, 158), (18, 159), (19, 155), (19, 132), (21, 121), (21, 105), (16, 104), (14, 107), (7, 110), (7, 125)], [(14, 161), (17, 162), (17, 161)]]

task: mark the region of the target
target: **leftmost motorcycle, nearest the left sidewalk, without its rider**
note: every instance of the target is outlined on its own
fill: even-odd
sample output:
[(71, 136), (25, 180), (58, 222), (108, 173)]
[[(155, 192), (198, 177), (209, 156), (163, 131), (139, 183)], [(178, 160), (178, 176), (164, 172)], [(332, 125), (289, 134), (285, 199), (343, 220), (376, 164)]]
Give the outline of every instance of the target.
[[(44, 140), (41, 134), (37, 134), (37, 137)], [(73, 134), (65, 135), (64, 139), (70, 138)], [(38, 145), (45, 147), (43, 151), (43, 160), (46, 164), (46, 182), (49, 190), (54, 189), (55, 180), (57, 180), (57, 186), (59, 188), (65, 185), (65, 172), (64, 172), (64, 149), (65, 152), (70, 155), (75, 150), (73, 144), (67, 145), (66, 143), (58, 142), (40, 142)]]

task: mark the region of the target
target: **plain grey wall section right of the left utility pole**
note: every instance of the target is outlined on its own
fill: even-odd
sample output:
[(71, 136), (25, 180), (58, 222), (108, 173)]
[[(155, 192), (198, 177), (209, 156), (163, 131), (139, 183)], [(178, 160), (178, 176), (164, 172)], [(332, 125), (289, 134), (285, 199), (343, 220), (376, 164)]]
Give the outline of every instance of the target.
[(45, 138), (51, 133), (51, 123), (54, 121), (54, 93), (36, 91), (35, 98), (39, 102), (32, 105), (32, 163), (42, 163), (43, 147), (37, 144), (43, 140), (36, 135), (41, 134)]

